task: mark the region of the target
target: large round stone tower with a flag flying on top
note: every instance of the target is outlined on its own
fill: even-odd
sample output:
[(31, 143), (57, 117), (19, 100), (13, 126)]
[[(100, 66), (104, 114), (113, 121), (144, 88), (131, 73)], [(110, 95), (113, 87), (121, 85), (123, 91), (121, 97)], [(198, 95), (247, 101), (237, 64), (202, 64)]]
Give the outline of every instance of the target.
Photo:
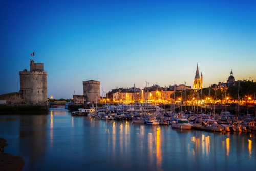
[(47, 72), (44, 63), (35, 63), (30, 59), (30, 71), (19, 72), (20, 97), (26, 103), (47, 103)]

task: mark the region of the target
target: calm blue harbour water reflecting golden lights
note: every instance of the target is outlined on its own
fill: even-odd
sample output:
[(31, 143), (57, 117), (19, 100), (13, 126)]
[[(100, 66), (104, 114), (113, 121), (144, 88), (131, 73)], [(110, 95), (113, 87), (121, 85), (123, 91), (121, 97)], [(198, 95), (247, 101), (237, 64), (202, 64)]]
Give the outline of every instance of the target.
[(176, 130), (68, 111), (0, 116), (5, 153), (22, 156), (23, 170), (252, 169), (255, 134)]

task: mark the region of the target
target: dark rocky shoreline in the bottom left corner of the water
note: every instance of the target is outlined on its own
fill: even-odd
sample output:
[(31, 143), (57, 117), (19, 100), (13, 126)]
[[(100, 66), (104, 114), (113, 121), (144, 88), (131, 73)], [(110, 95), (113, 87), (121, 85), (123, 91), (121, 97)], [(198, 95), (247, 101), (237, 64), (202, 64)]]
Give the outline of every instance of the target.
[(4, 153), (4, 147), (8, 145), (4, 138), (0, 138), (0, 170), (22, 170), (25, 164), (22, 157)]

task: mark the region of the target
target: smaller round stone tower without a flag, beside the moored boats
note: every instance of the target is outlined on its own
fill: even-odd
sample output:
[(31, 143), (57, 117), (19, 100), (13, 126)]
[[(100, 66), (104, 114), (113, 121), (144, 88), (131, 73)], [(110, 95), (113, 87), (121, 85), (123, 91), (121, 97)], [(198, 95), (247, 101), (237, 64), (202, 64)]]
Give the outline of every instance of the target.
[(83, 95), (87, 102), (100, 103), (100, 82), (99, 81), (83, 81)]

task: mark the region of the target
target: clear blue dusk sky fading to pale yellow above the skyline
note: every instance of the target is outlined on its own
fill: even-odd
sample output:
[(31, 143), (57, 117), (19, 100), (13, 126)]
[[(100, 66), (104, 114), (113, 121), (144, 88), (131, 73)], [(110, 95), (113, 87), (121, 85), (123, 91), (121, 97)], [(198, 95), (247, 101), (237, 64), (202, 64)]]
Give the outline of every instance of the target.
[[(256, 81), (256, 1), (0, 1), (0, 94), (44, 63), (48, 97), (111, 89)], [(35, 52), (35, 56), (30, 56)], [(74, 93), (75, 92), (75, 93)], [(101, 92), (102, 95), (102, 92)]]

